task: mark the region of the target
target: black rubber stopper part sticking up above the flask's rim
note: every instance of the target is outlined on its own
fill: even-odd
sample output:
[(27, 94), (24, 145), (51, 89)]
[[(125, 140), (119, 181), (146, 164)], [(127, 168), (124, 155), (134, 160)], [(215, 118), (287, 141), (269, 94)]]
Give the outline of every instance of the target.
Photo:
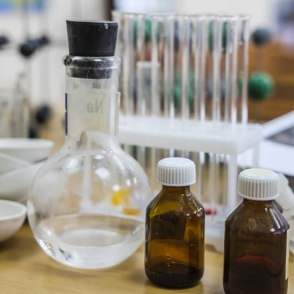
[(113, 22), (66, 21), (69, 53), (73, 56), (114, 56), (118, 24)]

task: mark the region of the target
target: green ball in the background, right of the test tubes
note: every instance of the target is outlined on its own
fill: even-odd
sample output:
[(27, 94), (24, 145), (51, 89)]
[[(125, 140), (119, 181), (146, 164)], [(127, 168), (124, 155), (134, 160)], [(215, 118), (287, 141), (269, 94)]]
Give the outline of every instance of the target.
[(273, 88), (274, 82), (267, 73), (252, 73), (248, 79), (248, 96), (255, 101), (269, 98)]

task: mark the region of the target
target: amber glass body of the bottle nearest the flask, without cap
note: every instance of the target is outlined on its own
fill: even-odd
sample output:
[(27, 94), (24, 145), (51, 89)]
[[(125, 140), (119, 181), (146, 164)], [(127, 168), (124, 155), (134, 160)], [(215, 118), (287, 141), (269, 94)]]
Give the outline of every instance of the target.
[(202, 278), (204, 209), (189, 186), (163, 186), (148, 205), (145, 272), (165, 287), (189, 287)]

